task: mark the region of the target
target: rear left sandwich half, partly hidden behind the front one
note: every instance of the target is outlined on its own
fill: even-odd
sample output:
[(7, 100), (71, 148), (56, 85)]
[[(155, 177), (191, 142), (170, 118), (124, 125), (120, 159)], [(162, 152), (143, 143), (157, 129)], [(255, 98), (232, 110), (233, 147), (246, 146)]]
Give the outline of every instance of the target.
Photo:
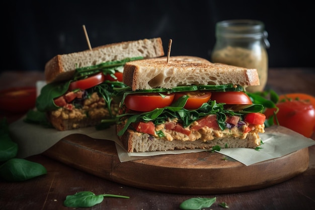
[(45, 65), (47, 85), (37, 97), (37, 111), (45, 112), (58, 130), (98, 125), (102, 119), (115, 117), (118, 112), (112, 92), (114, 87), (124, 87), (124, 64), (163, 55), (161, 38), (56, 55)]

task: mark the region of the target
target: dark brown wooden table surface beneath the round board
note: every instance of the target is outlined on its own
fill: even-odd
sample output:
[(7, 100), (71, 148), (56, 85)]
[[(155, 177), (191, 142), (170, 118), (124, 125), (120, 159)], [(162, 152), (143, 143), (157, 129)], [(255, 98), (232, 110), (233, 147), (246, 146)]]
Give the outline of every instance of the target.
[[(10, 87), (35, 86), (44, 80), (42, 72), (2, 72), (0, 90)], [(267, 88), (278, 94), (306, 93), (315, 96), (315, 68), (270, 68)], [(21, 115), (0, 111), (1, 117), (13, 122)], [(315, 134), (311, 136), (315, 140)], [(315, 206), (315, 146), (309, 147), (309, 165), (305, 172), (285, 182), (254, 191), (228, 194), (163, 193), (129, 187), (108, 181), (52, 160), (42, 154), (28, 157), (46, 167), (48, 173), (24, 182), (0, 181), (0, 209), (73, 209), (63, 206), (67, 195), (80, 191), (95, 194), (117, 194), (125, 198), (105, 197), (103, 202), (88, 209), (180, 209), (191, 197), (216, 197), (210, 208), (223, 209), (314, 209)], [(172, 171), (170, 171), (172, 173)]]

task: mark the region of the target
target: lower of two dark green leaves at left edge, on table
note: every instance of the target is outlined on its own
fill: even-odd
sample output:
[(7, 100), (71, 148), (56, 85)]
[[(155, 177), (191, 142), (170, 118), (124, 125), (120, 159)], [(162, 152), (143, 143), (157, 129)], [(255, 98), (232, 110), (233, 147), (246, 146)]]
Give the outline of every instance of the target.
[(0, 166), (0, 178), (6, 181), (25, 181), (43, 174), (47, 170), (39, 163), (12, 158)]

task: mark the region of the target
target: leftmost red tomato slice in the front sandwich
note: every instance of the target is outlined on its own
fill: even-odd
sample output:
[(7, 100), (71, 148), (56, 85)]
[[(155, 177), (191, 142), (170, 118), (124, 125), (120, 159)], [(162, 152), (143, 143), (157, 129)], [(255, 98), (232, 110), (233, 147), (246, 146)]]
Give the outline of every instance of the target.
[(125, 105), (128, 109), (134, 111), (148, 112), (155, 108), (164, 108), (170, 106), (174, 99), (174, 93), (163, 94), (147, 93), (143, 94), (129, 94), (125, 98)]

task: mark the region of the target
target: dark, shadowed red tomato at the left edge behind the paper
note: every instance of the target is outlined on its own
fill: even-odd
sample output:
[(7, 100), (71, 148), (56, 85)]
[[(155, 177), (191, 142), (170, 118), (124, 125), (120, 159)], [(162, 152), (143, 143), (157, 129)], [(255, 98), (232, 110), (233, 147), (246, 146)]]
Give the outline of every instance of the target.
[(35, 87), (10, 88), (0, 91), (1, 110), (22, 113), (34, 108), (35, 103)]

